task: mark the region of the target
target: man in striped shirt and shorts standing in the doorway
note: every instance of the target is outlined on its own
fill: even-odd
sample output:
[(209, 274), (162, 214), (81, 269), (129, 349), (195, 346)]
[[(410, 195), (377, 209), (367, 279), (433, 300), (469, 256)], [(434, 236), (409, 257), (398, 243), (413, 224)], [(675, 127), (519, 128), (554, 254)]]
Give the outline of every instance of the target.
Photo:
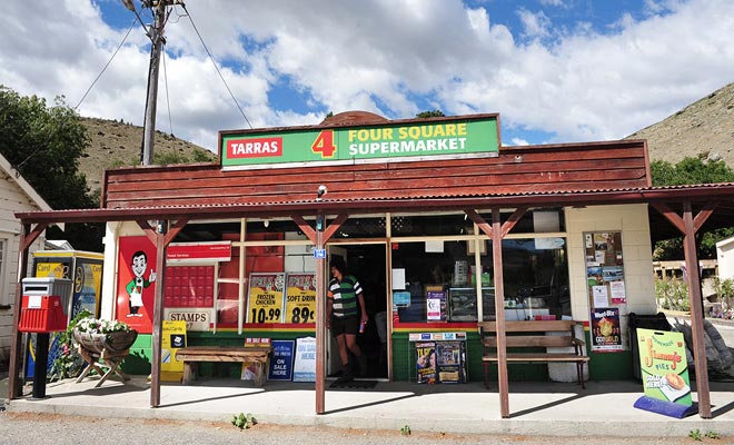
[(365, 297), (357, 278), (347, 273), (347, 265), (341, 257), (335, 257), (329, 265), (331, 276), (329, 290), (327, 293), (327, 317), (326, 327), (339, 345), (339, 357), (341, 358), (341, 377), (338, 383), (354, 379), (351, 353), (357, 357), (361, 374), (367, 372), (367, 358), (361, 354), (357, 345), (357, 333), (360, 324), (367, 324), (367, 310), (365, 309)]

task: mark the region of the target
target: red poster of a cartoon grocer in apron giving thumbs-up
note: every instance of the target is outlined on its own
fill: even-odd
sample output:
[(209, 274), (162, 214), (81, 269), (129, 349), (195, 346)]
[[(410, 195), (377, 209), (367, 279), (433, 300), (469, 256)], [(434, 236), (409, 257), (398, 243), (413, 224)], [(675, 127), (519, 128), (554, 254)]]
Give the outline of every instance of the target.
[(156, 247), (147, 236), (120, 237), (117, 319), (140, 334), (152, 333)]

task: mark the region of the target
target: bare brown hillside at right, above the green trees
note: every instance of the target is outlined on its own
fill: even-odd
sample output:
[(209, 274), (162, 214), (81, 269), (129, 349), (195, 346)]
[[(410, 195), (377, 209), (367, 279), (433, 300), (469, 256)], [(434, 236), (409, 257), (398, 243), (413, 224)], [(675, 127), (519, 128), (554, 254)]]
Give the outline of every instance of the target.
[(676, 164), (701, 156), (734, 168), (734, 83), (625, 139), (647, 139), (652, 160)]

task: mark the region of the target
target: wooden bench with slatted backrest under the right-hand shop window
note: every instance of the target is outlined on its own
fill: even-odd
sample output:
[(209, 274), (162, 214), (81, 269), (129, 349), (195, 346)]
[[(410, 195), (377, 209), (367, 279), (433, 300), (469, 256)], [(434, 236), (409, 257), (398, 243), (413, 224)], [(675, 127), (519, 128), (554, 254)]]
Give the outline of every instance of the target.
[[(584, 364), (589, 357), (584, 355), (584, 340), (576, 338), (573, 320), (505, 322), (507, 363), (575, 363), (578, 384), (584, 386)], [(496, 322), (478, 323), (479, 338), (484, 346), (484, 384), (488, 386), (489, 365), (497, 358)], [(561, 333), (562, 335), (547, 335)], [(573, 352), (538, 352), (538, 348), (573, 347)]]

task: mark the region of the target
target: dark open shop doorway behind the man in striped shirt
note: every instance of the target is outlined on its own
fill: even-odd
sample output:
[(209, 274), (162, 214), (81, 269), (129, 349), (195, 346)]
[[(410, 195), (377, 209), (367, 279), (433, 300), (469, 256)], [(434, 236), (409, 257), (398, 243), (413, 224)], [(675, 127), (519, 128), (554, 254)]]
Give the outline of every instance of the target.
[[(340, 256), (347, 263), (347, 270), (354, 275), (363, 288), (365, 308), (369, 322), (365, 330), (357, 335), (357, 345), (367, 358), (364, 378), (387, 378), (387, 277), (384, 244), (338, 245), (329, 247), (329, 258)], [(330, 277), (329, 277), (330, 280)], [(329, 333), (328, 375), (341, 375), (339, 349)]]

